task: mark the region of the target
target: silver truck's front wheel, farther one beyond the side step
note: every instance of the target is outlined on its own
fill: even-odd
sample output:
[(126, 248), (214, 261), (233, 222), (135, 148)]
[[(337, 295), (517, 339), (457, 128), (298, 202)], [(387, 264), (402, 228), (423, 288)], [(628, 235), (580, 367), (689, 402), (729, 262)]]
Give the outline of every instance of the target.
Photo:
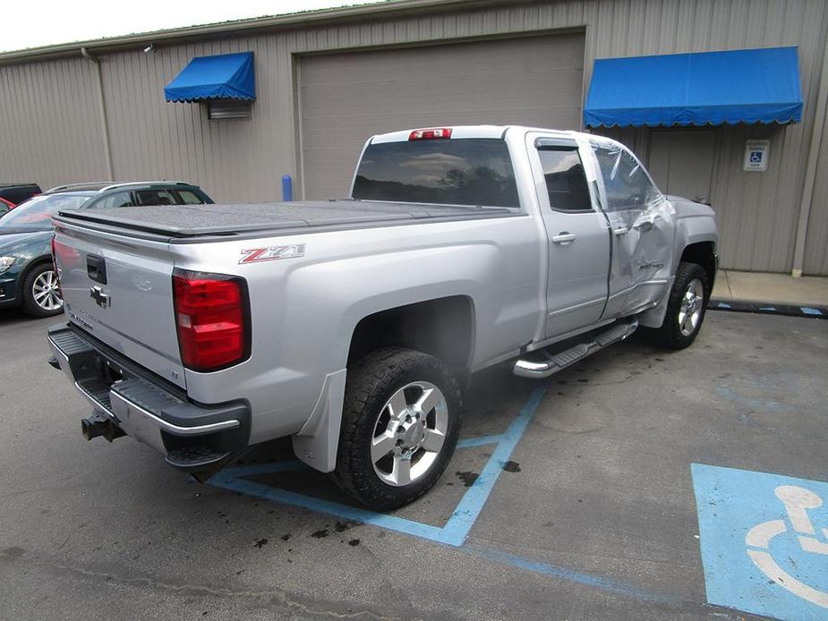
[(670, 349), (684, 349), (696, 340), (702, 328), (710, 287), (707, 272), (696, 263), (680, 263), (670, 289), (667, 314), (656, 335)]

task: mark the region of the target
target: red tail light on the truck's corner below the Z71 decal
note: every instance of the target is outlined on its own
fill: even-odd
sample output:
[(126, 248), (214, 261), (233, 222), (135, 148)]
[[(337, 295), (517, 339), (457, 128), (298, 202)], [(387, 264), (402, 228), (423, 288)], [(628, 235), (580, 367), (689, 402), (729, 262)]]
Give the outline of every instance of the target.
[(213, 371), (247, 360), (250, 301), (243, 278), (176, 269), (173, 297), (185, 367)]

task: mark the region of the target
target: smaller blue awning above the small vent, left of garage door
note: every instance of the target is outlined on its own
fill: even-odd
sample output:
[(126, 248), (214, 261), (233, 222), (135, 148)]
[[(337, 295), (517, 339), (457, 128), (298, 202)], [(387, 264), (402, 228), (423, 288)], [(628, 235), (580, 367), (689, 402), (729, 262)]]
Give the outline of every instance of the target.
[(255, 99), (253, 53), (198, 56), (166, 85), (167, 101)]

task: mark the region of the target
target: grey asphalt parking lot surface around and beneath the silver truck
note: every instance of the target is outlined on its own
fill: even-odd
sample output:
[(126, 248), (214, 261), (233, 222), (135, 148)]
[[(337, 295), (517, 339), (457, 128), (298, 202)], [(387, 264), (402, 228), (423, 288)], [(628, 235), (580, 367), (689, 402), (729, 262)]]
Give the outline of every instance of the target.
[[(727, 603), (722, 573), (755, 579), (715, 529), (755, 509), (758, 473), (828, 481), (828, 321), (712, 311), (684, 352), (636, 335), (544, 382), (488, 370), (464, 447), (390, 516), (284, 445), (199, 485), (130, 438), (87, 443), (46, 364), (54, 322), (0, 317), (0, 617), (808, 617), (773, 580), (782, 608), (707, 601)], [(828, 590), (826, 565), (798, 577)]]

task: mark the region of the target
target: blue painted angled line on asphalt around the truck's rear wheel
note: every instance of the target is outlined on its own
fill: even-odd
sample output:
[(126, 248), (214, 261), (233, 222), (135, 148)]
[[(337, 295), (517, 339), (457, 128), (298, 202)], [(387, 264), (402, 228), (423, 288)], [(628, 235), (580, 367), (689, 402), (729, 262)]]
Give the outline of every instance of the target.
[(311, 509), (319, 513), (335, 515), (346, 520), (369, 523), (374, 526), (380, 526), (381, 528), (414, 535), (415, 537), (439, 541), (450, 546), (462, 546), (465, 538), (480, 516), (486, 500), (489, 499), (491, 490), (494, 489), (500, 472), (503, 472), (503, 465), (508, 462), (517, 443), (523, 437), (526, 427), (532, 420), (532, 416), (535, 410), (537, 410), (538, 405), (541, 404), (543, 396), (546, 395), (546, 391), (547, 387), (545, 386), (535, 388), (523, 409), (521, 409), (516, 419), (509, 424), (508, 429), (504, 433), (483, 438), (466, 438), (457, 444), (459, 448), (480, 447), (484, 445), (495, 445), (495, 448), (477, 479), (466, 490), (463, 498), (457, 504), (454, 513), (442, 527), (416, 522), (403, 517), (397, 517), (396, 515), (380, 514), (369, 509), (343, 505), (321, 498), (314, 498), (286, 489), (274, 488), (256, 481), (251, 481), (247, 478), (254, 474), (285, 472), (287, 470), (304, 467), (303, 464), (295, 461), (227, 468), (210, 479), (209, 483), (220, 488), (231, 489), (243, 494), (265, 498), (273, 502), (302, 506), (303, 508)]

